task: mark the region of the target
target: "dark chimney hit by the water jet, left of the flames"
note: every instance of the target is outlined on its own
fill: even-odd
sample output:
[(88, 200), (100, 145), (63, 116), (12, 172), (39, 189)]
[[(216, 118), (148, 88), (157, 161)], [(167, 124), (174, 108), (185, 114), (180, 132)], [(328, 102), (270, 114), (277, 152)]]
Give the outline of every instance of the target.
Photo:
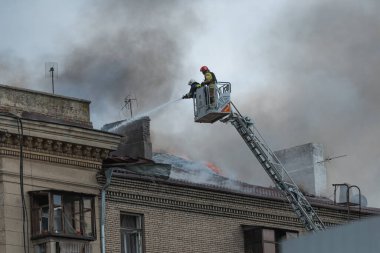
[(112, 131), (123, 136), (118, 149), (111, 155), (152, 159), (149, 117), (113, 122), (104, 125), (102, 130)]

